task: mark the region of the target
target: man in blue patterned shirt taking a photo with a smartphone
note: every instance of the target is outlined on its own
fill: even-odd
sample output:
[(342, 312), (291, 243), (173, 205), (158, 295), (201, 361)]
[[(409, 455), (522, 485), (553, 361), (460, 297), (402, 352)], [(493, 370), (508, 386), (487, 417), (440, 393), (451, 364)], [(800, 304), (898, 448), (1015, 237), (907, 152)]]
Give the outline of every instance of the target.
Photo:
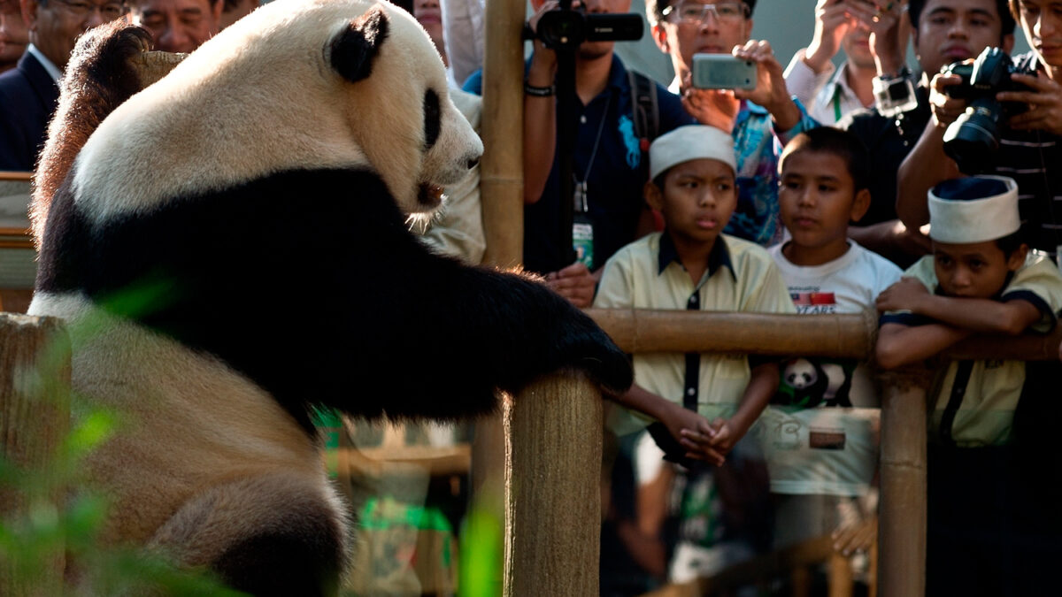
[[(782, 65), (768, 41), (750, 39), (756, 0), (647, 0), (653, 39), (671, 56), (675, 78), (668, 90), (702, 124), (734, 137), (740, 193), (724, 232), (761, 245), (782, 239), (777, 156), (791, 137), (817, 126), (790, 97)], [(693, 89), (696, 53), (731, 54), (756, 62), (755, 89)]]

